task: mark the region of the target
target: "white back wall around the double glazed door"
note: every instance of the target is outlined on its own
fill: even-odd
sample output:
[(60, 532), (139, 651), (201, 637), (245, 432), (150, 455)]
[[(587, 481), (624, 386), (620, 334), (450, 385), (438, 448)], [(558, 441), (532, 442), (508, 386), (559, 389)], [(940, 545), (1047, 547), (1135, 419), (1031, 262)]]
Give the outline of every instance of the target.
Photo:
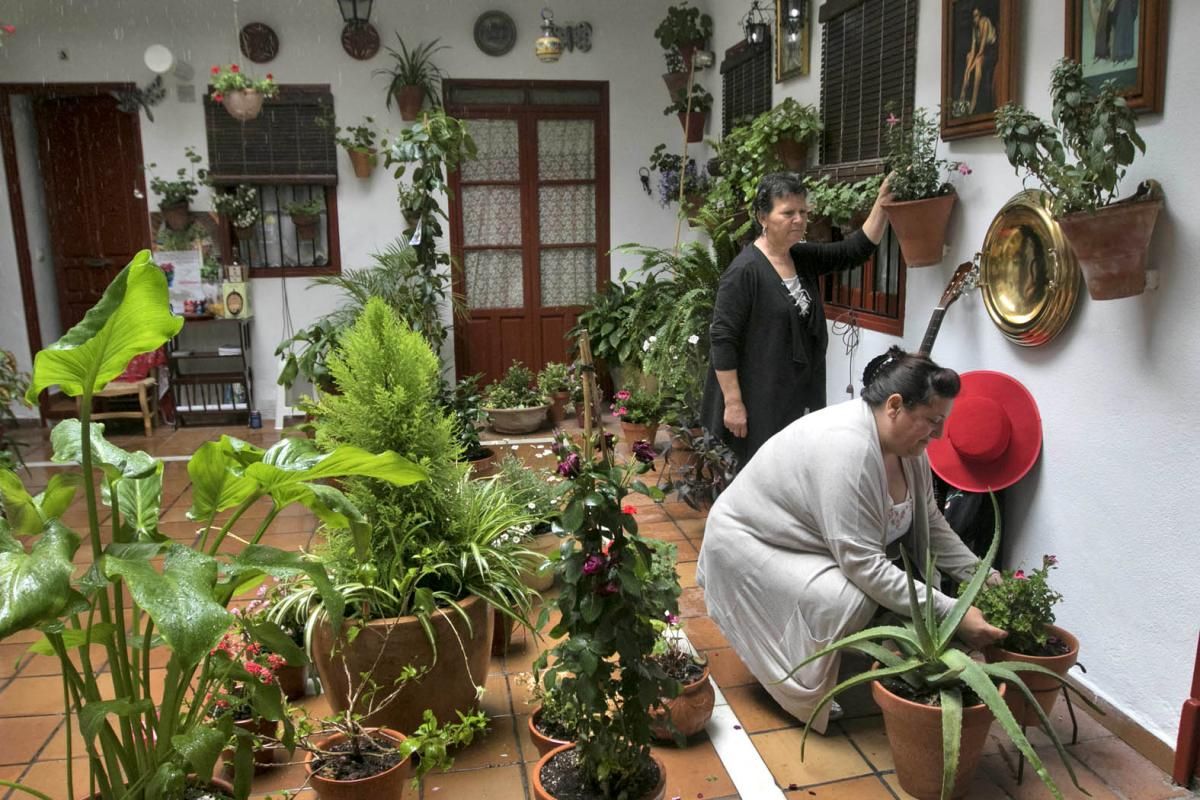
[[(605, 4), (562, 0), (553, 4), (558, 23), (588, 20), (593, 25), (589, 53), (565, 53), (558, 64), (539, 62), (533, 54), (541, 5), (451, 0), (446, 2), (377, 2), (372, 23), (384, 44), (395, 44), (392, 31), (406, 43), (440, 37), (451, 47), (437, 56), (437, 64), (455, 78), (524, 78), (541, 80), (607, 80), (610, 84), (610, 172), (611, 228), (613, 246), (637, 241), (671, 246), (674, 241), (673, 209), (660, 209), (647, 197), (637, 178), (659, 142), (678, 142), (679, 124), (662, 115), (666, 89), (661, 52), (653, 31), (667, 6), (666, 0), (612, 0)], [(172, 0), (127, 0), (121, 4), (100, 0), (47, 0), (14, 4), (5, 8), (5, 22), (17, 34), (0, 49), (0, 80), (11, 82), (115, 82), (146, 83), (152, 74), (142, 55), (152, 43), (169, 47), (176, 58), (196, 70), (198, 94), (212, 64), (236, 61), (252, 74), (272, 72), (283, 83), (329, 83), (338, 119), (354, 124), (364, 115), (398, 130), (402, 122), (395, 109), (384, 108), (384, 78), (374, 68), (386, 66), (384, 50), (371, 61), (355, 61), (341, 47), (342, 20), (335, 2), (313, 0), (240, 0), (240, 2), (184, 2)], [(474, 44), (472, 29), (484, 11), (499, 8), (512, 16), (517, 26), (514, 49), (500, 58), (484, 55)], [(238, 24), (234, 22), (234, 10)], [(269, 65), (252, 65), (238, 52), (238, 25), (263, 22), (280, 37), (280, 54)], [(59, 52), (67, 52), (60, 60)], [(168, 97), (155, 108), (155, 122), (142, 118), (142, 142), (146, 162), (156, 162), (160, 174), (185, 166), (184, 146), (205, 150), (204, 112), (200, 102), (175, 100), (175, 79), (167, 79)], [(355, 179), (342, 156), (338, 185), (338, 224), (342, 263), (370, 264), (370, 254), (401, 233), (395, 203), (395, 181), (376, 170), (368, 181)], [(151, 197), (151, 203), (156, 198)], [(0, 266), (4, 266), (0, 313), (20, 320), (20, 294), (12, 249), (11, 221), (6, 199), (0, 199)], [(204, 207), (203, 201), (196, 204)], [(686, 234), (686, 228), (684, 231)], [(614, 254), (612, 273), (634, 267), (637, 259)], [(254, 392), (264, 415), (274, 413), (276, 365), (275, 344), (282, 338), (281, 279), (254, 282)], [(11, 287), (10, 287), (11, 284)], [(332, 308), (332, 293), (305, 290), (307, 281), (288, 279), (292, 321), (301, 327)], [(12, 289), (10, 291), (10, 288)], [(7, 330), (8, 326), (6, 326)], [(24, 330), (16, 330), (5, 342), (28, 361)], [(52, 339), (47, 339), (49, 342)]]

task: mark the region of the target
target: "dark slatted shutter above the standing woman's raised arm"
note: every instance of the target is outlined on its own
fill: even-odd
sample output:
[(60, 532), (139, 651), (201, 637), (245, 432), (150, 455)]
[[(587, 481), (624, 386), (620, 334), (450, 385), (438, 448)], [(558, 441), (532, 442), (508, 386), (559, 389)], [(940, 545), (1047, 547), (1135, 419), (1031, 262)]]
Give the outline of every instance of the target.
[(882, 158), (887, 107), (910, 119), (918, 0), (829, 0), (821, 6), (822, 164)]

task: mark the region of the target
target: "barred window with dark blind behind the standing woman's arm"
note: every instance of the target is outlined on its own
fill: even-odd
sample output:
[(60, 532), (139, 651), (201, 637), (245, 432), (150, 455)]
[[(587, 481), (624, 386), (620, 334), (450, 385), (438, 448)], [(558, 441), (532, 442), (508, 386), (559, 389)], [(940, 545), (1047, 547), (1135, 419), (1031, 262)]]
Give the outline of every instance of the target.
[[(820, 173), (858, 180), (883, 172), (888, 107), (910, 119), (919, 0), (827, 0), (821, 6)], [(862, 267), (827, 276), (829, 317), (904, 333), (905, 264), (890, 229)]]

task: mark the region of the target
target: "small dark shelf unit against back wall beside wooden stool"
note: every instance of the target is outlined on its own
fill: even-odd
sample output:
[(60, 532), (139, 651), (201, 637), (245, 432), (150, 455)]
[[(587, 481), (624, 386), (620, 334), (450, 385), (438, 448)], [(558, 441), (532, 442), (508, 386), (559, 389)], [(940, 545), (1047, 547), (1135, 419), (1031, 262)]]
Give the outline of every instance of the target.
[[(238, 351), (221, 353), (218, 348)], [(248, 422), (254, 408), (248, 319), (187, 317), (179, 336), (170, 341), (167, 361), (176, 428), (220, 417)]]

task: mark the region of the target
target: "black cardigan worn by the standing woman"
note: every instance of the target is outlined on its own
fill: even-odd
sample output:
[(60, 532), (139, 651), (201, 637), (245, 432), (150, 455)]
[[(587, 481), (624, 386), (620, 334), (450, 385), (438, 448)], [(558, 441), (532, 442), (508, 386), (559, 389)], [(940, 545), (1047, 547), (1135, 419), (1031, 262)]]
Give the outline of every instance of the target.
[[(829, 333), (817, 278), (858, 266), (875, 252), (862, 230), (832, 245), (792, 246), (792, 263), (812, 305), (802, 317), (775, 267), (754, 245), (721, 275), (713, 308), (712, 366), (704, 385), (702, 420), (745, 465), (767, 439), (805, 411), (826, 404), (824, 356)], [(725, 428), (725, 396), (716, 369), (737, 369), (746, 407), (748, 435)]]

